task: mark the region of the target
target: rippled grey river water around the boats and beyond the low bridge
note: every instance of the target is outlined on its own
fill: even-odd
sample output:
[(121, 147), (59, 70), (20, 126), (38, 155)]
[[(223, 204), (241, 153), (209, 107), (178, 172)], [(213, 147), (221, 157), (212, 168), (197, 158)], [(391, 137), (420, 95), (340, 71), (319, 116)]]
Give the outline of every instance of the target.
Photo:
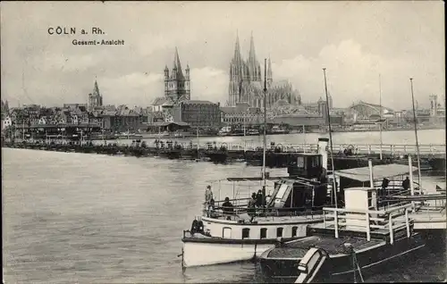
[[(444, 130), (430, 131), (420, 131), (421, 143), (445, 143)], [(334, 143), (371, 143), (376, 136), (340, 133)], [(274, 141), (300, 143), (297, 137), (275, 136)], [(384, 132), (384, 143), (411, 139), (410, 131)], [(259, 167), (10, 148), (2, 149), (2, 166), (6, 283), (259, 280), (254, 263), (182, 271), (177, 257), (182, 230), (201, 211), (206, 180), (258, 176)], [(286, 175), (287, 170), (269, 171)], [(423, 177), (425, 188), (435, 184), (445, 184), (444, 176)], [(232, 192), (223, 187), (221, 194)], [(445, 244), (434, 247), (367, 281), (444, 280)]]

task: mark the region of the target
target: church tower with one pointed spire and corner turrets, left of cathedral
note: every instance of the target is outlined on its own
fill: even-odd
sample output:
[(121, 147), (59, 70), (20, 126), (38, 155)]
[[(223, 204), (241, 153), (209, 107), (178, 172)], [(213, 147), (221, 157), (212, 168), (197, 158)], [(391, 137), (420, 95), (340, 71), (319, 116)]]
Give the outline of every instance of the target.
[(173, 102), (182, 99), (190, 100), (190, 66), (186, 65), (183, 75), (177, 47), (175, 47), (171, 74), (169, 74), (167, 66), (164, 67), (164, 97)]

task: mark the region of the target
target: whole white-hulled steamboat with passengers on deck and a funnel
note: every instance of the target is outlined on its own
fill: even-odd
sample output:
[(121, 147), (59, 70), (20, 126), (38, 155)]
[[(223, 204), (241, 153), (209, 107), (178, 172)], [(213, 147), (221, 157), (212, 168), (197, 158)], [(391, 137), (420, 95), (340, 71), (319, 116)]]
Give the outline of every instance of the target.
[[(319, 145), (319, 151), (325, 152), (327, 139), (320, 139)], [(231, 213), (222, 200), (215, 201), (214, 205), (206, 204), (203, 214), (192, 221), (191, 229), (183, 231), (183, 266), (248, 261), (274, 246), (277, 238), (305, 237), (308, 224), (324, 221), (323, 206), (333, 204), (332, 187), (323, 174), (327, 167), (323, 156), (326, 157), (303, 154), (299, 176), (266, 177), (274, 181), (274, 191), (268, 199), (265, 188), (249, 185), (260, 195), (257, 208), (249, 206), (250, 198), (237, 199), (234, 195), (231, 200), (225, 200), (225, 203), (234, 203)], [(227, 181), (262, 179), (229, 178)]]

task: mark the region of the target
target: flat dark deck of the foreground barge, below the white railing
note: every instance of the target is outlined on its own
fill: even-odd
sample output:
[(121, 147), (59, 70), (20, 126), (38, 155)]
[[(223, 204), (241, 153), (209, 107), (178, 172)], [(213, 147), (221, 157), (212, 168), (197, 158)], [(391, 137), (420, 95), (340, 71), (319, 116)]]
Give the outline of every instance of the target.
[(302, 258), (312, 246), (325, 249), (329, 255), (346, 255), (345, 243), (350, 243), (354, 251), (360, 251), (371, 246), (384, 246), (384, 239), (367, 240), (367, 238), (340, 236), (332, 238), (329, 236), (312, 236), (291, 241), (283, 246), (274, 248), (269, 254), (269, 258)]

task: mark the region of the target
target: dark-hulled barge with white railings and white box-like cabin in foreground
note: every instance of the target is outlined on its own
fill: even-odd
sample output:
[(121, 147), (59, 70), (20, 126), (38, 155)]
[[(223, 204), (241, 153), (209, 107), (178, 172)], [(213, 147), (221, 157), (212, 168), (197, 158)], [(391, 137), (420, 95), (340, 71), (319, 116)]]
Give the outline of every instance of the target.
[[(392, 172), (391, 166), (401, 168), (379, 165), (377, 169), (386, 167), (392, 176), (396, 171)], [(307, 238), (279, 242), (260, 255), (259, 265), (267, 281), (346, 281), (344, 276), (354, 271), (362, 277), (365, 271), (425, 246), (421, 235), (413, 231), (414, 221), (409, 213), (413, 205), (381, 204), (383, 189), (374, 187), (374, 180), (383, 179), (386, 171), (373, 173), (372, 164), (370, 168), (367, 183), (365, 172), (358, 171), (357, 180), (364, 186), (344, 188), (345, 208), (324, 208), (325, 221), (310, 225)], [(352, 171), (338, 174), (354, 180)], [(327, 221), (327, 217), (332, 220)]]

